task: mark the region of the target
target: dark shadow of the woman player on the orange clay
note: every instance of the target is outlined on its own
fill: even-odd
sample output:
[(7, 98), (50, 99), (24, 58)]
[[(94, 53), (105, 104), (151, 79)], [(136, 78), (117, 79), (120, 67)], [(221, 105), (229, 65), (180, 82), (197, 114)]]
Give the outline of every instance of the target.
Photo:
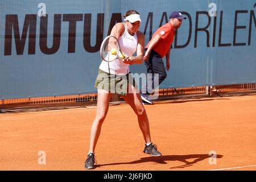
[(170, 168), (170, 169), (175, 169), (175, 168), (190, 167), (190, 166), (193, 166), (193, 164), (196, 164), (197, 162), (200, 162), (202, 160), (205, 160), (205, 159), (208, 159), (208, 158), (211, 158), (211, 160), (213, 160), (214, 158), (222, 158), (222, 156), (223, 155), (211, 156), (209, 154), (163, 155), (163, 156), (158, 156), (158, 157), (150, 156), (150, 157), (146, 157), (146, 158), (141, 158), (139, 160), (134, 160), (132, 162), (98, 164), (96, 167), (121, 165), (121, 164), (138, 164), (138, 163), (146, 163), (146, 162), (155, 162), (155, 163), (159, 163), (159, 164), (167, 164), (167, 161), (175, 161), (175, 160), (184, 163), (181, 166), (175, 166), (175, 167)]

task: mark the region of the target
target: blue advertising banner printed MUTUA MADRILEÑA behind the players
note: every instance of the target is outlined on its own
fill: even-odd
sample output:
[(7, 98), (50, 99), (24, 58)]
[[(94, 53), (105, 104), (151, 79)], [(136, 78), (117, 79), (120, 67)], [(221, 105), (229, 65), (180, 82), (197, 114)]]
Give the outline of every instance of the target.
[[(141, 14), (145, 44), (172, 11), (187, 17), (160, 88), (256, 81), (255, 0), (1, 0), (0, 7), (0, 99), (96, 93), (101, 42), (130, 9)], [(144, 64), (130, 68), (146, 73)]]

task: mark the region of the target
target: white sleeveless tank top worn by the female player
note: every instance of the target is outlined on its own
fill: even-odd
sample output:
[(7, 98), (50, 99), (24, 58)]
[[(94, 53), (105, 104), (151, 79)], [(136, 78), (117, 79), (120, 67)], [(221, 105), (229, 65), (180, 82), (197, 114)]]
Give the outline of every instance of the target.
[[(123, 32), (123, 35), (118, 38), (118, 42), (124, 55), (133, 56), (137, 50), (137, 33), (135, 32), (134, 36), (130, 35), (125, 27), (125, 31)], [(109, 63), (102, 60), (100, 69), (107, 73), (110, 72), (113, 75), (126, 75), (130, 72), (129, 64), (123, 63), (120, 58)]]

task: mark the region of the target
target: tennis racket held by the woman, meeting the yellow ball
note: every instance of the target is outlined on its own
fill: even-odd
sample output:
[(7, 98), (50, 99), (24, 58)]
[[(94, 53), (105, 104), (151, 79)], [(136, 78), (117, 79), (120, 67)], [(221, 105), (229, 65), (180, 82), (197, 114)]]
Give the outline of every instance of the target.
[(119, 46), (117, 38), (113, 35), (107, 36), (101, 43), (100, 55), (104, 61), (114, 61), (118, 58), (125, 58)]

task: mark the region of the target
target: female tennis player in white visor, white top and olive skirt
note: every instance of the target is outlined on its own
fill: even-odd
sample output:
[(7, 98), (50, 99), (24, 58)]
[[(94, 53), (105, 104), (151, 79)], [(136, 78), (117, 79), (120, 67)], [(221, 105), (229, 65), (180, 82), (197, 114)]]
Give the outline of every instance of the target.
[[(141, 25), (141, 17), (135, 10), (127, 11), (123, 17), (125, 18), (125, 22), (115, 24), (110, 35), (118, 39), (120, 49), (125, 55), (125, 58), (118, 58), (112, 62), (102, 60), (98, 69), (98, 76), (95, 82), (98, 90), (97, 113), (91, 127), (89, 152), (85, 160), (86, 169), (95, 168), (94, 149), (100, 137), (102, 123), (108, 113), (112, 93), (121, 94), (123, 99), (137, 114), (139, 127), (146, 143), (143, 152), (151, 156), (162, 155), (155, 144), (151, 142), (150, 126), (139, 90), (135, 88), (136, 84), (129, 82), (130, 79), (128, 79), (130, 76), (129, 65), (141, 64), (143, 62), (144, 35), (138, 31)], [(132, 56), (135, 52), (137, 52), (137, 56)], [(115, 85), (111, 86), (110, 82), (115, 85), (121, 82), (122, 86), (120, 88)]]

